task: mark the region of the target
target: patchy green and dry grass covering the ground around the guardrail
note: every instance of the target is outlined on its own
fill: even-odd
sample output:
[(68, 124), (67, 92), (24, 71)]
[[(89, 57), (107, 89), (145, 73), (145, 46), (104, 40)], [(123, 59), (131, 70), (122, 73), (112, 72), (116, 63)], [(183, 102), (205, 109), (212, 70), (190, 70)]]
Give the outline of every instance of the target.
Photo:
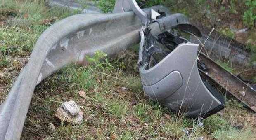
[[(145, 5), (162, 2), (164, 0), (148, 0)], [(109, 7), (103, 6), (109, 10), (113, 1)], [(56, 21), (76, 13), (78, 11), (45, 7), (43, 0), (0, 2), (0, 21), (4, 21), (0, 27), (0, 72), (14, 67), (9, 76), (0, 77), (0, 86), (5, 83), (7, 87), (0, 93), (1, 101), (25, 64), (20, 59), (29, 56), (39, 35)], [(177, 118), (167, 108), (150, 101), (144, 95), (138, 74), (136, 46), (114, 58), (105, 57), (97, 52), (95, 57), (88, 56), (92, 65), (68, 65), (36, 86), (21, 139), (94, 140), (113, 135), (120, 140), (220, 139), (230, 138), (230, 135), (234, 136), (232, 138), (237, 138), (237, 135), (243, 139), (255, 138), (253, 114), (236, 102), (229, 102), (224, 113), (205, 119), (201, 127), (196, 120), (182, 115)], [(16, 66), (14, 63), (20, 64)], [(122, 90), (122, 87), (128, 90)], [(85, 91), (86, 97), (78, 96), (79, 91)], [(83, 111), (84, 122), (81, 125), (61, 123), (55, 118), (59, 105), (70, 99)], [(54, 130), (49, 123), (54, 124)], [(237, 129), (237, 124), (243, 128)]]

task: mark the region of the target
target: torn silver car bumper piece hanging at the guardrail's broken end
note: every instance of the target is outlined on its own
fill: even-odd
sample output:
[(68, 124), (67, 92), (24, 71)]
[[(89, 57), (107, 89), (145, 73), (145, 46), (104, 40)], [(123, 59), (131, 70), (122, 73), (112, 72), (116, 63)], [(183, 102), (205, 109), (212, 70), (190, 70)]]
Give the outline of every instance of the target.
[(175, 112), (205, 118), (223, 109), (224, 100), (202, 81), (197, 51), (198, 44), (170, 33), (154, 36), (148, 28), (139, 71), (149, 98)]

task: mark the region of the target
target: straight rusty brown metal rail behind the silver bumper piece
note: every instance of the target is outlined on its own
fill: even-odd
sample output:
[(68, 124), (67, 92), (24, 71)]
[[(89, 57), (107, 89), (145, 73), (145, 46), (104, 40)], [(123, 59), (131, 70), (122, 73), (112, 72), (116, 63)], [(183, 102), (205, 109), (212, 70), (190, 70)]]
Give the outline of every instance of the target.
[(249, 110), (256, 112), (256, 91), (251, 86), (225, 70), (205, 54), (200, 53), (199, 59), (209, 68), (208, 72), (199, 70), (202, 78), (213, 83), (213, 86), (216, 86), (224, 96), (234, 98), (243, 103)]

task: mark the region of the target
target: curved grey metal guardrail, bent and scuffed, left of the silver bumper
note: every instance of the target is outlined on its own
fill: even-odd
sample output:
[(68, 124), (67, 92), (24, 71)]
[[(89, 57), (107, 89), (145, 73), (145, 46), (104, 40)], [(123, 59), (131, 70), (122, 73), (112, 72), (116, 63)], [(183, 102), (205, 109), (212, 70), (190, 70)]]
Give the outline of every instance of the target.
[[(162, 6), (151, 9), (168, 12), (163, 11), (166, 8)], [(149, 14), (151, 9), (144, 11)], [(170, 17), (166, 17), (161, 22), (167, 24), (169, 20)], [(0, 105), (0, 140), (20, 138), (33, 91), (43, 79), (69, 63), (86, 65), (85, 55), (92, 56), (95, 51), (112, 56), (139, 43), (141, 26), (140, 19), (133, 12), (123, 12), (78, 14), (45, 30), (36, 42), (30, 60)], [(151, 26), (155, 32), (161, 32), (158, 23)], [(168, 28), (170, 26), (163, 30)]]

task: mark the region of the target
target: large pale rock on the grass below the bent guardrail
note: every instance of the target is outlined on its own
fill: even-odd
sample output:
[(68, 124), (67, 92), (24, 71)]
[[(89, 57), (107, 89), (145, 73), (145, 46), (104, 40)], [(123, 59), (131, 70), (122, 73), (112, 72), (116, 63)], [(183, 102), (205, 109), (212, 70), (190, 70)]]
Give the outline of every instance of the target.
[(67, 121), (71, 124), (81, 124), (83, 122), (83, 112), (73, 100), (62, 103), (55, 116), (61, 121)]

